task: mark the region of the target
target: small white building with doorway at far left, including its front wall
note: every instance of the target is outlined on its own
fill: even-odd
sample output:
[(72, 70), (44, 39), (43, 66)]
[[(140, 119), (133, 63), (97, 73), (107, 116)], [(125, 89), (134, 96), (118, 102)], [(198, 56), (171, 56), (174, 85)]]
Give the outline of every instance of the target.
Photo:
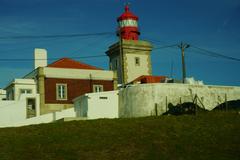
[(40, 115), (34, 80), (14, 79), (6, 87), (6, 93), (6, 100), (0, 101), (0, 127)]

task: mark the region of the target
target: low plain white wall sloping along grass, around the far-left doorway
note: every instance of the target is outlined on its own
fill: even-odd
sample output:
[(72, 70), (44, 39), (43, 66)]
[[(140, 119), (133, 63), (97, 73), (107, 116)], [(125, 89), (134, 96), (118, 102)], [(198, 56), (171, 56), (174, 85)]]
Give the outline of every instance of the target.
[[(36, 117), (27, 118), (28, 98), (36, 100)], [(18, 101), (0, 101), (0, 128), (49, 123), (66, 117), (76, 117), (74, 108), (40, 115), (39, 94), (22, 94)]]

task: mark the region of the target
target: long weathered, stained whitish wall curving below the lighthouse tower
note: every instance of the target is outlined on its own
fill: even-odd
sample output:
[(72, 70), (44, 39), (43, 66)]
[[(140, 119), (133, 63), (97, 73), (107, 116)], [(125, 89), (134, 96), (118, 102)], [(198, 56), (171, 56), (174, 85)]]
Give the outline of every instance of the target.
[[(193, 102), (198, 97), (198, 105), (212, 110), (227, 101), (240, 99), (240, 87), (207, 86), (188, 84), (139, 84), (119, 92), (119, 116), (150, 116), (157, 106), (158, 114), (166, 112), (169, 103), (173, 105)], [(201, 105), (201, 103), (203, 105)]]

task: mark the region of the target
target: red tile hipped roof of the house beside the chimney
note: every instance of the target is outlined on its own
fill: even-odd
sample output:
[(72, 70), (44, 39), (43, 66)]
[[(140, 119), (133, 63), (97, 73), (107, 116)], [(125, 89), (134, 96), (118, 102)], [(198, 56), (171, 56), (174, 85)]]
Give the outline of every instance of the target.
[(88, 64), (84, 64), (82, 62), (78, 62), (70, 58), (59, 59), (49, 64), (47, 67), (102, 70), (101, 68), (90, 66)]

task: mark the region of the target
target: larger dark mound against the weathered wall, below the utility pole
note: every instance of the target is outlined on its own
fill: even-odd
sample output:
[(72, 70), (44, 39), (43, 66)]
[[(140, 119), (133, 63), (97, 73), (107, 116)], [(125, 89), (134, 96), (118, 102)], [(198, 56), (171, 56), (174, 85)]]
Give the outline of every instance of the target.
[(207, 110), (192, 102), (185, 102), (182, 104), (177, 104), (176, 106), (174, 106), (172, 103), (169, 103), (168, 111), (163, 113), (163, 115), (195, 115), (199, 112), (207, 112)]

